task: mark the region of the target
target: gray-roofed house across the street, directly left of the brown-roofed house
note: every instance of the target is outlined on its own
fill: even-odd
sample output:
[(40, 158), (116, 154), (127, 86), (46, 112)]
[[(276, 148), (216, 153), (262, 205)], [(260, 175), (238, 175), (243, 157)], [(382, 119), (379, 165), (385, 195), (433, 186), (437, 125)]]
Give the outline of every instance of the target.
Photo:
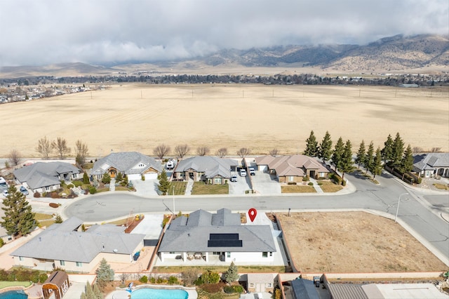
[(226, 184), (238, 163), (234, 159), (209, 156), (181, 160), (173, 170), (173, 180), (202, 180), (208, 184)]

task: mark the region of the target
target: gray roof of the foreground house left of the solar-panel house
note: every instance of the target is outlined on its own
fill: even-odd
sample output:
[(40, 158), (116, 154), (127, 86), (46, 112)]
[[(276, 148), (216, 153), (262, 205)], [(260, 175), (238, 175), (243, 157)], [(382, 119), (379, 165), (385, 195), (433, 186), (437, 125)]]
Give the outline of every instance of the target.
[(115, 225), (99, 225), (92, 231), (76, 232), (73, 229), (79, 222), (72, 218), (67, 221), (67, 224), (52, 225), (11, 255), (90, 263), (100, 252), (131, 254), (145, 237), (145, 234), (125, 234), (123, 227), (117, 229)]

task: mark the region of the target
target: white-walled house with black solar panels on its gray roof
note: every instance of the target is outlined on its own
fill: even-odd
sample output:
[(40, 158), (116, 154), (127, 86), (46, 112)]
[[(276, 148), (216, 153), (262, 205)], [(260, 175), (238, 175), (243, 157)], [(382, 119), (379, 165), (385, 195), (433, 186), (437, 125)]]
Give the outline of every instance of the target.
[(163, 235), (159, 258), (205, 260), (206, 263), (263, 264), (274, 261), (274, 237), (269, 225), (242, 225), (239, 213), (194, 211), (175, 218)]

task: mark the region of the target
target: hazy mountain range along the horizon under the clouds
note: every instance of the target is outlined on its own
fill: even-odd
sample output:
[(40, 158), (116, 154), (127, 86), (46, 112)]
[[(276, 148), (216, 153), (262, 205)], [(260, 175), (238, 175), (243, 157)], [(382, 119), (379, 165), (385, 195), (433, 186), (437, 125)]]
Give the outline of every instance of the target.
[[(109, 64), (110, 65), (110, 64)], [(81, 62), (41, 67), (1, 67), (0, 77), (86, 76), (120, 72), (209, 72), (213, 69), (295, 68), (297, 72), (406, 72), (410, 69), (448, 71), (448, 36), (398, 34), (367, 45), (275, 46), (247, 50), (224, 49), (202, 57), (175, 61), (133, 62), (105, 66)], [(307, 69), (307, 70), (305, 70)]]

